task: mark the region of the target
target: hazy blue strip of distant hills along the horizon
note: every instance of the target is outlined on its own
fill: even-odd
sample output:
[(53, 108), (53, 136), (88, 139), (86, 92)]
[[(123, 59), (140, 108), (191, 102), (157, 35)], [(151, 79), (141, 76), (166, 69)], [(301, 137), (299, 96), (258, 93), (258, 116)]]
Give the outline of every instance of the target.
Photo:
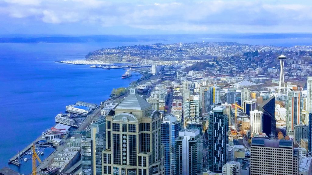
[(85, 42), (140, 42), (189, 39), (292, 39), (312, 38), (312, 34), (207, 34), (207, 35), (0, 35), (0, 43), (85, 43)]

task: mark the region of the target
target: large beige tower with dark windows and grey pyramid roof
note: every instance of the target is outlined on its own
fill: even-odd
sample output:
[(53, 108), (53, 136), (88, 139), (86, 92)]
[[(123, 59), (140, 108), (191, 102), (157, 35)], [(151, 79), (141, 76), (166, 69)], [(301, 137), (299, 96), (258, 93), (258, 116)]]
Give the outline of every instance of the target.
[(106, 116), (102, 174), (164, 174), (159, 111), (130, 89), (129, 96)]

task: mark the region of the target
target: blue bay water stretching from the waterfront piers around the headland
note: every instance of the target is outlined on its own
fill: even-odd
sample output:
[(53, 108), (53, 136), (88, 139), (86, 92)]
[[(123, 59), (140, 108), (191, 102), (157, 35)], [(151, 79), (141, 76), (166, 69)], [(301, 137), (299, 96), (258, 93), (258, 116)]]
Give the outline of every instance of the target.
[[(157, 41), (202, 42), (232, 41), (257, 45), (311, 45), (310, 38), (188, 38)], [(121, 79), (122, 69), (94, 69), (86, 65), (61, 64), (55, 61), (84, 59), (96, 49), (155, 42), (116, 43), (0, 43), (0, 168), (9, 158), (25, 148), (41, 133), (53, 126), (54, 117), (65, 106), (78, 100), (100, 103), (109, 98), (113, 88), (127, 87), (131, 79)], [(46, 155), (46, 154), (45, 154)], [(13, 166), (14, 167), (14, 166)], [(16, 167), (14, 167), (16, 168)], [(20, 173), (30, 173), (31, 163)]]

